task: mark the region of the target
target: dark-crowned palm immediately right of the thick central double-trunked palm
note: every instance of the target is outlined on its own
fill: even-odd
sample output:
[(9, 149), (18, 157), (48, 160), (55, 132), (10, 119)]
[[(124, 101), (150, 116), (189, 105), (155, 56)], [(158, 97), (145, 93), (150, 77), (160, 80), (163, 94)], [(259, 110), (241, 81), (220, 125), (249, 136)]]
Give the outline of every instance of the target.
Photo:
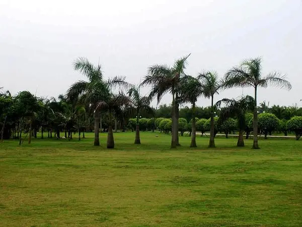
[(203, 84), (197, 78), (192, 76), (185, 76), (181, 86), (181, 99), (183, 102), (190, 102), (192, 104), (192, 131), (191, 131), (191, 145), (190, 147), (197, 147), (196, 145), (196, 119), (195, 119), (195, 104), (197, 98), (203, 95)]

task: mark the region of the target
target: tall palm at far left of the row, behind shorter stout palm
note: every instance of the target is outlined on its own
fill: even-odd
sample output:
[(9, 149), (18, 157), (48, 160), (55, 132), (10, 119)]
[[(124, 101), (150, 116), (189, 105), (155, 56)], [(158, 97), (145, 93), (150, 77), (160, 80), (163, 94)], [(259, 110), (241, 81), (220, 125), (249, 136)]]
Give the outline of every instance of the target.
[(72, 100), (82, 96), (80, 100), (89, 104), (91, 108), (94, 108), (95, 116), (95, 139), (94, 145), (100, 145), (99, 139), (99, 125), (100, 125), (100, 111), (97, 108), (99, 101), (105, 100), (109, 96), (110, 90), (113, 87), (126, 85), (124, 77), (114, 77), (112, 79), (105, 80), (103, 78), (103, 72), (101, 65), (94, 66), (86, 58), (78, 58), (73, 63), (73, 68), (79, 71), (88, 78), (89, 81), (77, 81), (71, 85), (67, 91), (67, 98)]

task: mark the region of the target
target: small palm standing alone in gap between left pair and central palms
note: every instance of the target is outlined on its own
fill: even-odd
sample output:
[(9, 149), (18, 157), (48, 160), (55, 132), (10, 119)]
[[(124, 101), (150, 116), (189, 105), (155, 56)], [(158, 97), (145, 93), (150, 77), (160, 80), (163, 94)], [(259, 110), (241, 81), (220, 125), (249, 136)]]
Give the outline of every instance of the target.
[(131, 88), (128, 91), (128, 95), (130, 97), (130, 102), (135, 108), (136, 113), (136, 131), (135, 131), (135, 140), (134, 144), (140, 144), (140, 138), (139, 138), (139, 111), (141, 109), (145, 109), (148, 111), (153, 111), (153, 109), (150, 107), (150, 97), (147, 96), (141, 96), (140, 95), (140, 85), (134, 86), (132, 85)]

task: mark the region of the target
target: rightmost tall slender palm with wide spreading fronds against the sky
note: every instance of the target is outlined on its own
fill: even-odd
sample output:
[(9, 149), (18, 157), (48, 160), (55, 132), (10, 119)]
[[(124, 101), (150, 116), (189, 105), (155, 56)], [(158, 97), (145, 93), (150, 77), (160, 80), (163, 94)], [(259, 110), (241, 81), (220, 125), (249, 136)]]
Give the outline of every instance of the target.
[(224, 87), (254, 87), (254, 142), (253, 148), (259, 149), (258, 146), (258, 112), (257, 112), (257, 90), (259, 87), (268, 85), (278, 86), (281, 88), (291, 89), (291, 84), (286, 80), (284, 75), (277, 72), (268, 74), (266, 77), (261, 75), (261, 58), (244, 60), (239, 67), (233, 67), (226, 72), (224, 76)]

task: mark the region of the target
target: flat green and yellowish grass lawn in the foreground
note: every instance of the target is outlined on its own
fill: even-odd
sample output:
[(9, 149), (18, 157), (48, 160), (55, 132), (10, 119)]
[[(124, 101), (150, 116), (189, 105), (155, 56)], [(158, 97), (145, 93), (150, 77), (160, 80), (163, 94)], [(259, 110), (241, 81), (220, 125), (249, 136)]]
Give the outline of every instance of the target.
[(302, 141), (114, 136), (0, 144), (0, 225), (302, 226)]

